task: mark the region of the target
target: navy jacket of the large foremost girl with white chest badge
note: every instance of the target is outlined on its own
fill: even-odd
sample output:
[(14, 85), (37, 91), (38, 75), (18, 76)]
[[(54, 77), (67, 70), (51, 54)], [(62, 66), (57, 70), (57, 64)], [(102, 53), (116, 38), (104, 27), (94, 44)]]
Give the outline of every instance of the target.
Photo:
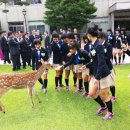
[(87, 68), (92, 70), (92, 74), (97, 80), (100, 80), (110, 74), (106, 64), (104, 47), (96, 40), (91, 50), (92, 62), (86, 64)]

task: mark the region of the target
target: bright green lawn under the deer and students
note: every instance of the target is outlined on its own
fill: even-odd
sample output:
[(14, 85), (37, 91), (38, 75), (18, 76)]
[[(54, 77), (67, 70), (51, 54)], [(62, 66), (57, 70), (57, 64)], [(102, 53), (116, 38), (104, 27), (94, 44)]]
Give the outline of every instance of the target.
[[(74, 87), (67, 92), (54, 89), (54, 71), (49, 71), (48, 93), (36, 89), (42, 101), (39, 104), (34, 97), (35, 108), (31, 108), (27, 89), (10, 90), (1, 101), (6, 107), (6, 114), (0, 112), (0, 130), (130, 130), (130, 65), (116, 68), (116, 96), (113, 105), (115, 116), (104, 121), (97, 116), (98, 105), (92, 99), (85, 99), (74, 94)], [(20, 72), (31, 71), (31, 68)], [(11, 72), (11, 66), (0, 66), (0, 73)], [(71, 85), (73, 82), (71, 80)]]

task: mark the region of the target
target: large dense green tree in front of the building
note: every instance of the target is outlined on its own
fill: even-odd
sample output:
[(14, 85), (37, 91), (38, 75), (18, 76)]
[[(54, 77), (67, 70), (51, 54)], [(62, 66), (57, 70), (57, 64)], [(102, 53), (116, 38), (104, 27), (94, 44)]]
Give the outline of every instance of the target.
[(46, 0), (44, 22), (52, 27), (81, 29), (97, 11), (90, 0)]

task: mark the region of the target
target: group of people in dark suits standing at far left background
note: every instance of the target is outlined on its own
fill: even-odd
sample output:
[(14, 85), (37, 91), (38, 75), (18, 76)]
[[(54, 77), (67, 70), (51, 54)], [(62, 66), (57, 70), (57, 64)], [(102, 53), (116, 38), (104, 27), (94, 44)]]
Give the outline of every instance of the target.
[(42, 35), (39, 30), (33, 30), (32, 34), (23, 33), (22, 31), (13, 33), (6, 31), (0, 32), (0, 59), (7, 62), (13, 63), (13, 71), (26, 68), (28, 64), (31, 66), (32, 49), (34, 49), (34, 39), (40, 39), (42, 41)]

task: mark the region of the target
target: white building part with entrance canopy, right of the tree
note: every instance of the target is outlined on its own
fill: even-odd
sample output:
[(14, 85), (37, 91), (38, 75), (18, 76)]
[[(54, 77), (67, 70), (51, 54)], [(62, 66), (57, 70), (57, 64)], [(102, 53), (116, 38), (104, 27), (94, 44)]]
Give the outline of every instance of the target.
[(92, 22), (106, 31), (125, 27), (130, 31), (130, 0), (91, 0), (95, 2), (97, 17)]

